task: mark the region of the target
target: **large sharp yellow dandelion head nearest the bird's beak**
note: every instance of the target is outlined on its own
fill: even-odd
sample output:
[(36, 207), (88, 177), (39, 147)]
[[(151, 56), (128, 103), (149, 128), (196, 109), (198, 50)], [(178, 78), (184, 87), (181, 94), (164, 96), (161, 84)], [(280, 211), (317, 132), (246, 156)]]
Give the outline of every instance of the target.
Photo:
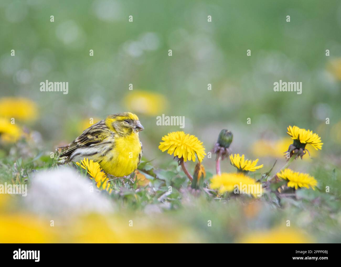
[(168, 154), (174, 154), (174, 157), (183, 161), (192, 160), (195, 162), (195, 155), (201, 162), (206, 153), (203, 142), (194, 135), (185, 134), (184, 132), (172, 132), (162, 137), (164, 142), (160, 142), (159, 149), (164, 152), (168, 150)]

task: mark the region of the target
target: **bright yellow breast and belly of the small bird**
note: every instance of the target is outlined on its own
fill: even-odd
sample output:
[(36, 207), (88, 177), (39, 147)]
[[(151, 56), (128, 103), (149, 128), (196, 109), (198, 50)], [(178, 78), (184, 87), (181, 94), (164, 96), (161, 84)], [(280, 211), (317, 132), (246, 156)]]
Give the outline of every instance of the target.
[(113, 148), (101, 158), (102, 169), (116, 177), (134, 172), (142, 154), (142, 147), (137, 133), (116, 136)]

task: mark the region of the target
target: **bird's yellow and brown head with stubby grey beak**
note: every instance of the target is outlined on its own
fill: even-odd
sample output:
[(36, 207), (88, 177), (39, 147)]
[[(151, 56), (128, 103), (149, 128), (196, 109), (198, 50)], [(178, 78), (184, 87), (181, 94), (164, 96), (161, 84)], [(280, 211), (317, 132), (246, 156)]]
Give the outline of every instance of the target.
[(111, 131), (121, 135), (137, 133), (144, 129), (138, 117), (130, 112), (109, 115), (105, 119), (105, 124)]

